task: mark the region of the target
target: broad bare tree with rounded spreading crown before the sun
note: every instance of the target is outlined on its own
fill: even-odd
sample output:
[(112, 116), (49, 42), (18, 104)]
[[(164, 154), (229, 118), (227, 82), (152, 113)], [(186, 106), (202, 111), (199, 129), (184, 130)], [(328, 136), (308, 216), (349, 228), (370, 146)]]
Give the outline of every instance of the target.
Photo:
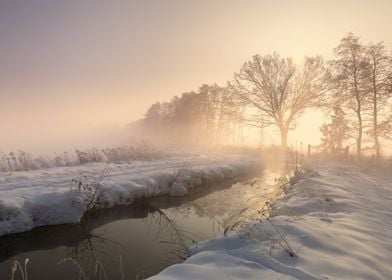
[(305, 57), (297, 66), (290, 58), (255, 55), (246, 62), (230, 90), (239, 102), (256, 109), (259, 127), (279, 128), (281, 146), (287, 147), (287, 134), (296, 119), (310, 107), (322, 104), (326, 92), (326, 68), (321, 57)]

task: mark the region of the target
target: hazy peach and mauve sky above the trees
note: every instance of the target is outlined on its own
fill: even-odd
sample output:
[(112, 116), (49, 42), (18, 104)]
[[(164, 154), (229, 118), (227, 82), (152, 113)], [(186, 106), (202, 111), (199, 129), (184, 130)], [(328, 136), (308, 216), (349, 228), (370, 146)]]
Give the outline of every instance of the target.
[(256, 53), (328, 58), (349, 31), (391, 48), (391, 11), (388, 0), (0, 0), (0, 150), (101, 141), (155, 101), (224, 85)]

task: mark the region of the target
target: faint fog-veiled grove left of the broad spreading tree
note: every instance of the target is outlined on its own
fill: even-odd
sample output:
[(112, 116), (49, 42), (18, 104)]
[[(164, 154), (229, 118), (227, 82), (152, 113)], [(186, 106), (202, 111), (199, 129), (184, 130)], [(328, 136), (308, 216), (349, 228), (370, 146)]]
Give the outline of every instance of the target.
[(196, 92), (151, 105), (139, 125), (144, 136), (163, 143), (233, 144), (242, 136), (244, 109), (226, 87), (202, 85)]

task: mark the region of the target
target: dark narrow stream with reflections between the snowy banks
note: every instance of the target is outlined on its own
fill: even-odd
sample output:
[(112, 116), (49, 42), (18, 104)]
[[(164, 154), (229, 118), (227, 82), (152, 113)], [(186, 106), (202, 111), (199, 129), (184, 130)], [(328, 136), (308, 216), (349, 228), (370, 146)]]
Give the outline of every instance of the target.
[(125, 279), (143, 279), (181, 262), (187, 245), (222, 233), (238, 219), (256, 217), (276, 191), (276, 178), (285, 174), (268, 169), (260, 178), (199, 188), (185, 198), (155, 198), (96, 211), (82, 224), (0, 238), (0, 279), (10, 279), (12, 260), (25, 258), (30, 259), (29, 279), (78, 279), (77, 266), (58, 264), (64, 258), (75, 259), (90, 279), (97, 261), (109, 279), (121, 279), (120, 256)]

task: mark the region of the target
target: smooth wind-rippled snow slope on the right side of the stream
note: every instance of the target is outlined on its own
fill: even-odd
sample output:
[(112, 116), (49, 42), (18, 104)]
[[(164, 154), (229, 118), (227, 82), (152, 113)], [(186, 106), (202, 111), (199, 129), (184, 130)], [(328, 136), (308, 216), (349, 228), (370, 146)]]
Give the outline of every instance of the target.
[(184, 263), (150, 279), (392, 279), (390, 171), (315, 170), (272, 204), (271, 222), (190, 248)]

